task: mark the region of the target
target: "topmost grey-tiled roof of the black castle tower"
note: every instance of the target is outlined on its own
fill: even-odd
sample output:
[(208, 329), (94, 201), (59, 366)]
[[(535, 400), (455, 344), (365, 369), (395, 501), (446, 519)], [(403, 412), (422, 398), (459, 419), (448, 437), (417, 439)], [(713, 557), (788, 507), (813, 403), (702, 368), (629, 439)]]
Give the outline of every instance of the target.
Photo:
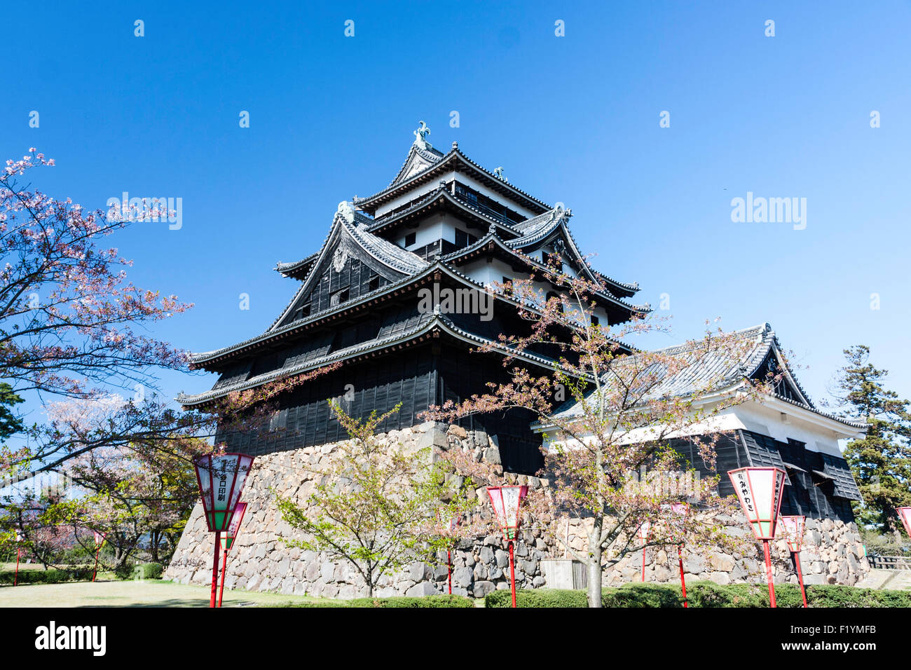
[[(409, 157), (411, 154), (412, 151), (409, 149)], [(408, 164), (409, 160), (410, 158), (405, 160), (405, 165)], [(394, 198), (397, 198), (406, 191), (410, 191), (415, 188), (415, 186), (434, 180), (439, 174), (450, 170), (465, 172), (474, 179), (485, 184), (488, 189), (502, 193), (510, 200), (519, 203), (521, 206), (526, 207), (531, 211), (541, 213), (551, 209), (550, 205), (546, 202), (539, 201), (530, 193), (517, 189), (508, 181), (500, 179), (493, 172), (486, 170), (486, 168), (481, 167), (474, 160), (469, 159), (465, 154), (458, 150), (457, 142), (453, 142), (453, 148), (441, 159), (436, 160), (433, 165), (429, 165), (424, 170), (420, 170), (410, 177), (402, 175), (402, 170), (399, 170), (399, 175), (396, 176), (396, 180), (383, 191), (376, 192), (366, 198), (358, 198), (355, 196), (354, 205), (358, 209), (373, 213), (378, 207), (382, 206), (384, 202), (394, 200)]]

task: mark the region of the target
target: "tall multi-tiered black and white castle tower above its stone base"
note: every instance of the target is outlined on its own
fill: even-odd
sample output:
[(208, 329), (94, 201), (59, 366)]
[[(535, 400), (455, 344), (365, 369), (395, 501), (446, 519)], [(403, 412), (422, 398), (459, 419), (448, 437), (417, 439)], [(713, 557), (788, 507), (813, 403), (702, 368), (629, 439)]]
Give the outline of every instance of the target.
[[(517, 189), (500, 169), (486, 170), (455, 143), (446, 153), (434, 149), (428, 134), (424, 124), (415, 131), (388, 187), (339, 204), (319, 250), (302, 249), (302, 260), (278, 264), (297, 286), (268, 330), (192, 356), (193, 366), (220, 376), (210, 391), (181, 395), (184, 407), (340, 364), (280, 397), (265, 425), (240, 432), (221, 428), (217, 440), (228, 448), (261, 455), (346, 438), (329, 398), (355, 417), (401, 403), (380, 427), (387, 431), (421, 423), (430, 405), (507, 381), (502, 353), (474, 350), (496, 343), (500, 334), (525, 333), (529, 325), (509, 296), (486, 290), (493, 282), (527, 277), (554, 253), (572, 272), (603, 283), (596, 305), (600, 324), (623, 323), (648, 310), (628, 302), (639, 291), (637, 283), (589, 266), (569, 231), (571, 211)], [(427, 308), (420, 292), (434, 286), (484, 292), (486, 302), (476, 301), (467, 312), (444, 300)], [(553, 365), (553, 354), (538, 347), (520, 362), (540, 374)], [(540, 436), (529, 428), (535, 418), (513, 410), (466, 417), (460, 424), (486, 433), (505, 469), (531, 474), (541, 466)]]

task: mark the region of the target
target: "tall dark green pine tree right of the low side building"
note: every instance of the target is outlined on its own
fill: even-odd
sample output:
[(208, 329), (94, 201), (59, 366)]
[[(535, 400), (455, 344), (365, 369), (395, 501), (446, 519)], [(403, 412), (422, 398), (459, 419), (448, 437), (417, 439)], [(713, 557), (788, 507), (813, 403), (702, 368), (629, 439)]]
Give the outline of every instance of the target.
[(844, 450), (864, 496), (855, 515), (880, 531), (896, 531), (896, 507), (911, 505), (911, 414), (908, 401), (883, 386), (887, 370), (870, 364), (870, 347), (844, 350), (847, 365), (840, 370), (837, 389), (846, 416), (867, 423), (865, 438)]

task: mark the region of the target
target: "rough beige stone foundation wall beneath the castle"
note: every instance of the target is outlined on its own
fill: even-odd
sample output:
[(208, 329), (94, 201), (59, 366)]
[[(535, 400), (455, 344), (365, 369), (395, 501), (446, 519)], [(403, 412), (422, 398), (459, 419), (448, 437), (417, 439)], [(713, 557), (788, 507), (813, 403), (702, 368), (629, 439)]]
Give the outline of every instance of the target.
[[(462, 447), (475, 448), (477, 458), (498, 463), (496, 446), (483, 431), (466, 431), (427, 422), (413, 428), (393, 430), (377, 439), (385, 444), (401, 443), (405, 448)], [(258, 457), (247, 481), (242, 499), (248, 503), (243, 525), (234, 548), (230, 551), (225, 587), (248, 591), (271, 591), (330, 598), (354, 598), (363, 595), (363, 578), (346, 562), (329, 560), (313, 551), (289, 548), (280, 538), (295, 537), (294, 529), (281, 520), (275, 494), (291, 497), (298, 503), (309, 498), (319, 477), (316, 470), (330, 458), (336, 444), (325, 444)], [(535, 477), (518, 476), (518, 483), (531, 488), (545, 485)], [(745, 520), (732, 519), (732, 530), (750, 531)], [(562, 547), (549, 546), (539, 529), (520, 531), (515, 546), (516, 582), (520, 588), (548, 585), (542, 573), (542, 559), (563, 558)], [(583, 546), (580, 523), (570, 523), (569, 543)], [(807, 520), (801, 554), (806, 583), (842, 583), (853, 585), (869, 570), (863, 557), (863, 546), (855, 524), (841, 521)], [(165, 579), (181, 583), (207, 584), (211, 580), (214, 534), (202, 516), (201, 503), (190, 515)], [(773, 549), (776, 582), (795, 582), (793, 568), (786, 559), (783, 541)], [(674, 554), (670, 550), (671, 554)], [(446, 592), (445, 556), (434, 564), (412, 563), (401, 572), (384, 575), (375, 594), (430, 595)], [(646, 550), (646, 581), (677, 582), (677, 556), (668, 551)], [(764, 582), (762, 554), (755, 542), (744, 555), (721, 551), (684, 551), (684, 571), (688, 579), (709, 579), (718, 583)], [(482, 597), (495, 589), (509, 588), (507, 547), (499, 534), (463, 540), (452, 552), (453, 593)], [(605, 572), (605, 585), (635, 582), (641, 579), (642, 554), (624, 558)]]

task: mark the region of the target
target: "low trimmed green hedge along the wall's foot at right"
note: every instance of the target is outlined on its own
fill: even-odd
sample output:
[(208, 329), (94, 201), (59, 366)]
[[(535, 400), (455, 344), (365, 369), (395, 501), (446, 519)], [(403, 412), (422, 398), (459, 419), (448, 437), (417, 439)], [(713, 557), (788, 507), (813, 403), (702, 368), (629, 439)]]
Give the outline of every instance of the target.
[[(765, 584), (728, 584), (691, 582), (686, 588), (690, 607), (768, 607), (769, 589)], [(810, 585), (806, 600), (811, 607), (911, 607), (911, 591), (877, 591), (854, 586)], [(803, 607), (800, 587), (793, 584), (775, 586), (775, 603), (779, 607)], [(520, 589), (516, 592), (519, 607), (587, 607), (584, 591), (558, 589)], [(601, 592), (604, 607), (682, 607), (679, 586), (670, 584), (629, 583), (619, 589)], [(509, 591), (495, 591), (484, 599), (485, 607), (511, 607)]]

